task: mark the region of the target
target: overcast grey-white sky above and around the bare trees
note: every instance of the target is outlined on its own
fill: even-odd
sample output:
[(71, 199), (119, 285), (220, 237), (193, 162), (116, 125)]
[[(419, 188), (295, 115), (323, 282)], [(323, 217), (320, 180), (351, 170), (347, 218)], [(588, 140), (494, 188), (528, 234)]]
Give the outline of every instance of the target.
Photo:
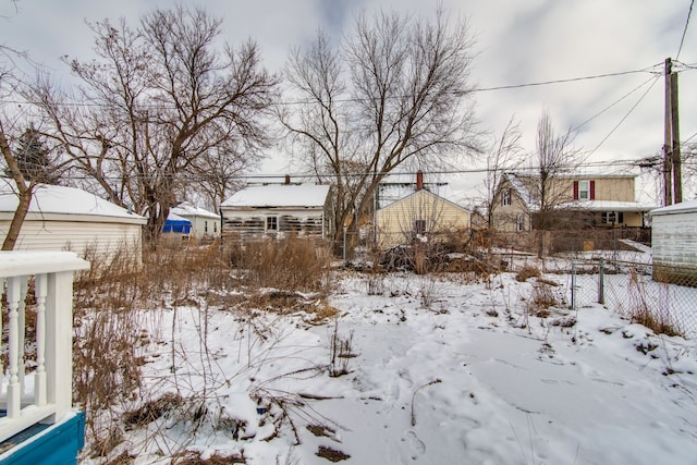
[[(5, 0), (0, 38), (26, 50), (70, 82), (61, 56), (91, 57), (94, 36), (86, 21), (124, 16), (135, 24), (164, 0)], [(14, 4), (16, 3), (16, 10)], [(291, 46), (310, 40), (318, 26), (333, 35), (347, 30), (354, 13), (395, 9), (432, 14), (440, 3), (468, 20), (478, 57), (473, 84), (480, 129), (500, 134), (512, 115), (521, 122), (524, 148), (533, 152), (536, 125), (547, 109), (559, 131), (578, 127), (576, 146), (590, 160), (639, 159), (663, 144), (663, 79), (667, 58), (676, 59), (690, 0), (206, 0), (223, 20), (231, 44), (253, 38), (271, 71), (280, 71)], [(683, 140), (697, 142), (697, 8), (678, 61)], [(646, 70), (640, 73), (510, 89), (503, 86), (573, 79)], [(658, 77), (657, 79), (652, 78)], [(651, 84), (652, 87), (651, 87)], [(490, 90), (487, 90), (490, 89)], [(632, 93), (632, 90), (634, 90)], [(600, 113), (598, 115), (598, 113)], [(596, 117), (597, 115), (597, 117)], [(596, 117), (596, 118), (594, 118)], [(603, 142), (604, 140), (604, 142)], [(267, 174), (293, 170), (288, 162), (266, 163)], [(595, 171), (607, 171), (596, 168)], [(452, 176), (464, 185), (472, 175)], [(464, 180), (464, 181), (463, 181)], [(463, 187), (464, 189), (465, 187)], [(467, 187), (469, 188), (469, 187)]]

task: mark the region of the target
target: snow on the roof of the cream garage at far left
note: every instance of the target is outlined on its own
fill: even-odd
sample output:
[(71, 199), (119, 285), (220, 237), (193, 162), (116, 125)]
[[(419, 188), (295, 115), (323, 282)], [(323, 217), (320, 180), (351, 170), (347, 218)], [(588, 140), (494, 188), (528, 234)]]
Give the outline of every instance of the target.
[[(7, 183), (0, 183), (0, 212), (15, 211), (19, 203), (20, 198), (10, 186)], [(86, 215), (129, 220), (142, 219), (145, 222), (144, 217), (86, 191), (58, 185), (37, 186), (32, 195), (29, 213)]]

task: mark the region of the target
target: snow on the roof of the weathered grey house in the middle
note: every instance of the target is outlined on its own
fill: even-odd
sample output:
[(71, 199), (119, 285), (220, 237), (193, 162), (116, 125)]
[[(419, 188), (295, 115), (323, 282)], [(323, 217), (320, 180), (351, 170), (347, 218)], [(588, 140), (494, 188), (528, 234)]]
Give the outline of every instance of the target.
[(328, 185), (257, 185), (236, 192), (221, 207), (321, 207), (327, 201), (328, 194)]

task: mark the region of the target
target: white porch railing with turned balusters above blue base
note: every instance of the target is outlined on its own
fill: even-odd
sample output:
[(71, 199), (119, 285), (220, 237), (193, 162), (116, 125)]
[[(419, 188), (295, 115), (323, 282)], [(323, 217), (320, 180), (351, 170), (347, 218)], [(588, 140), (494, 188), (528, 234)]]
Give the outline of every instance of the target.
[[(0, 320), (7, 355), (0, 360), (0, 442), (34, 424), (60, 421), (72, 408), (73, 273), (88, 268), (72, 252), (0, 252), (0, 293), (8, 302), (7, 328)], [(27, 308), (32, 282), (35, 299)], [(24, 352), (27, 311), (35, 311), (36, 321), (30, 360)]]

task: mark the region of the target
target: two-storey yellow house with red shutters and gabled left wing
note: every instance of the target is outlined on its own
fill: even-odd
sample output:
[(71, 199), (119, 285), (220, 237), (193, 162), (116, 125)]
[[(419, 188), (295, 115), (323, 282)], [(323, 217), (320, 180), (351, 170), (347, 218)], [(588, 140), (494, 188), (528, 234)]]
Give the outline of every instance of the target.
[[(640, 228), (651, 206), (635, 199), (634, 174), (571, 174), (548, 186), (548, 212), (553, 229)], [(540, 211), (539, 178), (505, 173), (492, 206), (493, 228), (502, 232), (530, 231)]]

